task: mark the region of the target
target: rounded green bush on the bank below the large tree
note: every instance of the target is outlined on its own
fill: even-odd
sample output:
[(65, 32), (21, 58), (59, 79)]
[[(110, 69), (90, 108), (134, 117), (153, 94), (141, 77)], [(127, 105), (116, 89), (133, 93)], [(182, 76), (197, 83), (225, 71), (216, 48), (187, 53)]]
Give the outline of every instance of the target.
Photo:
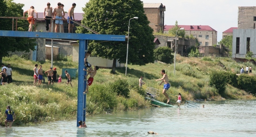
[(124, 96), (125, 98), (129, 97), (129, 84), (127, 80), (121, 80), (118, 79), (113, 83), (109, 84), (110, 90), (113, 91), (114, 93), (117, 93), (117, 95)]

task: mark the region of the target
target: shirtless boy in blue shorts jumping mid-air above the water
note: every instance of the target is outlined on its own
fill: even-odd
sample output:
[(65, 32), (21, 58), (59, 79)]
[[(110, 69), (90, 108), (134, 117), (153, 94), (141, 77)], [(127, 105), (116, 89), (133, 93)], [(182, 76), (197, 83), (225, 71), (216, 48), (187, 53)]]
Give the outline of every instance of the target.
[(170, 98), (169, 98), (168, 94), (166, 93), (167, 90), (170, 88), (168, 76), (165, 74), (164, 69), (162, 69), (160, 73), (163, 75), (162, 79), (158, 79), (158, 80), (155, 80), (155, 81), (161, 81), (161, 83), (159, 85), (161, 85), (164, 82), (162, 93), (167, 98), (167, 103), (166, 104), (168, 104), (169, 101), (170, 101)]

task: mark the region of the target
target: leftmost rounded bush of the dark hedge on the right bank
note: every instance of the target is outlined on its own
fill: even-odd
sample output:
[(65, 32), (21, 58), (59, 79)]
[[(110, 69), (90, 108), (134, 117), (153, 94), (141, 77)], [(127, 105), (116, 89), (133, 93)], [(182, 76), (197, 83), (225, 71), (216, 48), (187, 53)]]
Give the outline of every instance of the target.
[(221, 71), (213, 71), (210, 73), (209, 85), (218, 90), (218, 93), (222, 95), (225, 92), (227, 85), (227, 76), (223, 75)]

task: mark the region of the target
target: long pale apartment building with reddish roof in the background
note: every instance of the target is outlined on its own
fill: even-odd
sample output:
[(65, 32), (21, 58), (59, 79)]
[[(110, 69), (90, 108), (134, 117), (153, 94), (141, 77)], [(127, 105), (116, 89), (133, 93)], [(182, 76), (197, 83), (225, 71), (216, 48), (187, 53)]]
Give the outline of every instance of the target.
[[(175, 25), (165, 25), (164, 33), (168, 34), (169, 30)], [(193, 35), (197, 38), (200, 46), (213, 46), (217, 44), (217, 31), (209, 25), (179, 25), (184, 28), (185, 35)]]

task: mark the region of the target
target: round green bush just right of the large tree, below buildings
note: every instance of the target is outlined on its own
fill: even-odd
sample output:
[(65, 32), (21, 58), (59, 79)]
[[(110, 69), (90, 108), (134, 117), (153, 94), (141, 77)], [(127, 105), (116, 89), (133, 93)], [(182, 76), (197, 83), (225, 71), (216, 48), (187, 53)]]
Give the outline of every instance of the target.
[(155, 59), (165, 63), (172, 63), (174, 56), (172, 50), (168, 47), (159, 47), (154, 50)]

